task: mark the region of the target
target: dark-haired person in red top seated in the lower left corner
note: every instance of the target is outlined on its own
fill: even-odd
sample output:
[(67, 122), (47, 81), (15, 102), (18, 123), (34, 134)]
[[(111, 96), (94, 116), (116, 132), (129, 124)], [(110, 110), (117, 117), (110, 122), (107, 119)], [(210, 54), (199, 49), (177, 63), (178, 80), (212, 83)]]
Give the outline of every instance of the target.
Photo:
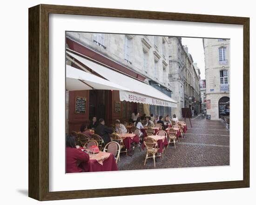
[(66, 138), (66, 173), (83, 172), (79, 167), (81, 162), (87, 162), (89, 155), (75, 147), (75, 137), (67, 135)]

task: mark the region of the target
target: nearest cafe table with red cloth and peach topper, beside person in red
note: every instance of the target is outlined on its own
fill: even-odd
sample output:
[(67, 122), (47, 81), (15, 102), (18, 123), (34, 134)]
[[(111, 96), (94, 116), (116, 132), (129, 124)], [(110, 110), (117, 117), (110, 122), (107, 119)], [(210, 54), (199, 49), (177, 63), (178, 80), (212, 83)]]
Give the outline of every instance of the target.
[(118, 171), (114, 155), (108, 152), (92, 154), (89, 161), (81, 163), (81, 167), (85, 172)]

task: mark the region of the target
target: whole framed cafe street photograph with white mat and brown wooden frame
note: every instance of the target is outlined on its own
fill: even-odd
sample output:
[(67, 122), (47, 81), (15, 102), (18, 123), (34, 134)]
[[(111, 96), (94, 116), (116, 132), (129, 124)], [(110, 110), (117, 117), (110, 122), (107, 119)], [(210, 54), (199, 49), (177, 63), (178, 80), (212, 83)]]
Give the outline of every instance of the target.
[(244, 187), (249, 18), (29, 8), (29, 197)]

